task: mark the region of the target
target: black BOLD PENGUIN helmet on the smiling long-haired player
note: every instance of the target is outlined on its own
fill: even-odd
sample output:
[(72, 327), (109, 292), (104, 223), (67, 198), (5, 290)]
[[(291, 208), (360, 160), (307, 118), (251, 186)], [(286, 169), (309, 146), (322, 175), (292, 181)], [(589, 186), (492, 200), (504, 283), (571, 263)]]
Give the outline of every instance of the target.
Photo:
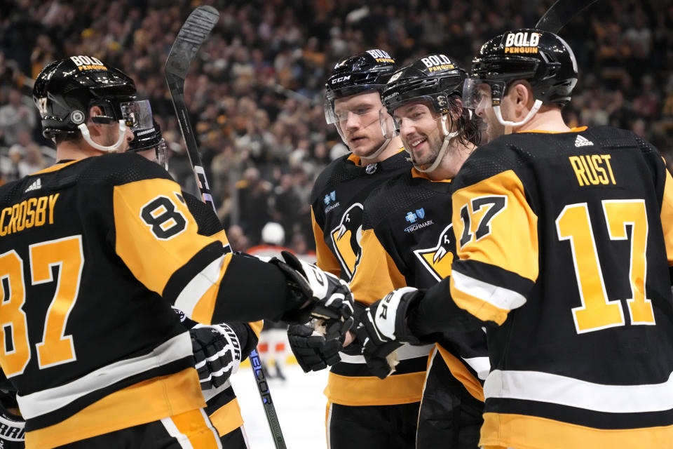
[(390, 76), (381, 95), (388, 114), (412, 100), (428, 100), (438, 114), (449, 113), (449, 98), (459, 96), (467, 74), (447, 55), (419, 58)]

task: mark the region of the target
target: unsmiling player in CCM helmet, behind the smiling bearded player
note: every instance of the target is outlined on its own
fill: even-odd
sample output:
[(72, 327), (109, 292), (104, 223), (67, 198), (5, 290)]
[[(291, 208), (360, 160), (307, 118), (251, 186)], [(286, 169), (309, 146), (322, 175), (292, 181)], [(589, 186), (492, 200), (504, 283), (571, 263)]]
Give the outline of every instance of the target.
[[(318, 267), (350, 281), (358, 270), (362, 252), (363, 204), (381, 182), (411, 168), (397, 136), (384, 136), (380, 126), (390, 116), (381, 103), (381, 91), (395, 71), (395, 61), (385, 51), (369, 50), (337, 63), (325, 83), (325, 117), (334, 123), (351, 154), (327, 166), (311, 193), (313, 233)], [(369, 279), (374, 288), (379, 278)], [(392, 289), (390, 280), (383, 288)], [(365, 283), (366, 284), (366, 283)], [(379, 289), (379, 286), (376, 286)], [(354, 293), (356, 304), (364, 291)], [(357, 306), (356, 306), (357, 307)], [(304, 370), (317, 370), (339, 360), (339, 344), (322, 343), (310, 328), (297, 326), (288, 335)], [(372, 376), (353, 344), (332, 366), (325, 395), (327, 443), (332, 449), (410, 448), (414, 446), (421, 389), (430, 346), (405, 347), (408, 357), (401, 370), (385, 380)]]

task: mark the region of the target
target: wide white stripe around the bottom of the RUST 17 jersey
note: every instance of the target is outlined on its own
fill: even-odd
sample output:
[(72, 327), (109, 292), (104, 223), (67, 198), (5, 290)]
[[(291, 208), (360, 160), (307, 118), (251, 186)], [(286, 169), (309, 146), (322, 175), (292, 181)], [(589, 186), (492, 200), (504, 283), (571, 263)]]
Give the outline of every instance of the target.
[(494, 370), (484, 383), (484, 396), (605, 413), (658, 412), (673, 409), (673, 373), (660, 384), (605, 385), (539, 371)]

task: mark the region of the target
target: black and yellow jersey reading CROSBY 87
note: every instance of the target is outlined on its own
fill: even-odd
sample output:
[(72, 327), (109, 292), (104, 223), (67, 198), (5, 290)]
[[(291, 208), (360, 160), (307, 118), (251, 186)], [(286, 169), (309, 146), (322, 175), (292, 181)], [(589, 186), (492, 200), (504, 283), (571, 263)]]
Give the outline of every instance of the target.
[[(205, 406), (171, 304), (205, 323), (282, 312), (283, 274), (199, 235), (180, 192), (130, 153), (0, 188), (0, 365), (18, 389), (27, 444), (51, 448)], [(254, 283), (250, 263), (266, 270)]]

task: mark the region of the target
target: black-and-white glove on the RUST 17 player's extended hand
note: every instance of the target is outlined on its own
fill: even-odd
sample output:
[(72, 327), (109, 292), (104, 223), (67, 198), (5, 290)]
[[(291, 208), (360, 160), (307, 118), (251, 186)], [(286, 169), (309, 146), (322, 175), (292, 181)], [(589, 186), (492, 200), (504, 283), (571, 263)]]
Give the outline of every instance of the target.
[(402, 343), (420, 343), (407, 326), (407, 309), (419, 294), (412, 287), (399, 288), (374, 302), (362, 318), (358, 340), (362, 341), (362, 355), (372, 374), (385, 379), (395, 372), (399, 363), (395, 349)]

